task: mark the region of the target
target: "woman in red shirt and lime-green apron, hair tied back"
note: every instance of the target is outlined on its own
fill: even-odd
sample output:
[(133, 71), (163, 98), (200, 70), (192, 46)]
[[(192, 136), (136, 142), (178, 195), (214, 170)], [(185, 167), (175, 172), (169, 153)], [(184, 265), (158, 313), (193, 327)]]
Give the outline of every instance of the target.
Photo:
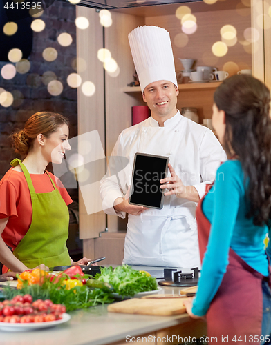
[[(23, 130), (13, 134), (14, 159), (0, 181), (0, 262), (22, 272), (41, 264), (75, 264), (68, 255), (68, 208), (72, 199), (46, 166), (60, 164), (68, 144), (68, 119), (54, 112), (37, 112)], [(8, 248), (12, 248), (12, 252)], [(86, 264), (81, 259), (78, 264)]]

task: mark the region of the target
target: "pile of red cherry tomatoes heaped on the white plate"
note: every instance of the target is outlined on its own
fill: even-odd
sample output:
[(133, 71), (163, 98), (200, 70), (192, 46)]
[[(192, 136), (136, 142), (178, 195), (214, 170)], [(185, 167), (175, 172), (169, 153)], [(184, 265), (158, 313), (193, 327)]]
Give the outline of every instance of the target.
[(17, 295), (0, 302), (0, 322), (10, 324), (55, 321), (62, 319), (65, 312), (66, 307), (62, 304), (53, 304), (50, 299), (32, 302), (31, 295)]

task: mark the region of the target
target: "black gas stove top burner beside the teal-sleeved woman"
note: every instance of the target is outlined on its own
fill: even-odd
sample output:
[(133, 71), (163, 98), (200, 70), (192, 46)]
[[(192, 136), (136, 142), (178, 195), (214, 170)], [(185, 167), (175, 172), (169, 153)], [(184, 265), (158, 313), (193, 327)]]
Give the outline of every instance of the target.
[(191, 268), (191, 272), (182, 272), (181, 270), (165, 268), (164, 280), (160, 280), (158, 284), (162, 286), (180, 287), (196, 286), (198, 285), (198, 273), (200, 273), (198, 267)]

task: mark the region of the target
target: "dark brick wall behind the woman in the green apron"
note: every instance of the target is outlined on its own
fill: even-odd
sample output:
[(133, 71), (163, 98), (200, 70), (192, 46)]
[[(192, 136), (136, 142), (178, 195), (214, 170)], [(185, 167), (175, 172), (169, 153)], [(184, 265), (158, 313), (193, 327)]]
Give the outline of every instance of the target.
[[(34, 32), (32, 52), (28, 60), (31, 68), (24, 75), (16, 73), (15, 77), (6, 80), (0, 75), (0, 87), (12, 92), (19, 90), (24, 101), (20, 106), (4, 108), (0, 105), (0, 179), (10, 168), (10, 161), (16, 157), (10, 148), (9, 136), (16, 128), (23, 128), (26, 120), (38, 111), (60, 112), (70, 120), (70, 137), (77, 135), (77, 90), (68, 86), (68, 75), (75, 72), (71, 62), (76, 57), (76, 27), (75, 6), (69, 3), (55, 1), (52, 6), (39, 17), (46, 23), (41, 32)], [(73, 43), (68, 47), (60, 46), (57, 37), (62, 32), (68, 32)], [(53, 47), (58, 56), (55, 61), (48, 62), (42, 57), (45, 48)], [(0, 70), (6, 62), (0, 62)], [(64, 90), (55, 97), (49, 94), (47, 86), (41, 82), (46, 71), (52, 71), (63, 83)], [(28, 86), (31, 75), (35, 74), (36, 83)], [(77, 190), (68, 190), (73, 200), (77, 200)]]

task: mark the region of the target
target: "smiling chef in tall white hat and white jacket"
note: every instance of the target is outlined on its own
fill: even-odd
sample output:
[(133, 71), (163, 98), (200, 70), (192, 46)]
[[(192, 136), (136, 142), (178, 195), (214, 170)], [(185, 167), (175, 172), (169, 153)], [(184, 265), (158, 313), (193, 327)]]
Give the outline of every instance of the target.
[[(225, 152), (208, 128), (176, 109), (179, 94), (169, 32), (140, 26), (129, 34), (142, 96), (151, 117), (123, 130), (112, 156), (127, 157), (118, 175), (101, 181), (104, 212), (124, 218), (129, 214), (124, 263), (193, 268), (200, 266), (195, 210), (214, 180)], [(169, 157), (164, 206), (161, 210), (128, 203), (136, 152)]]

